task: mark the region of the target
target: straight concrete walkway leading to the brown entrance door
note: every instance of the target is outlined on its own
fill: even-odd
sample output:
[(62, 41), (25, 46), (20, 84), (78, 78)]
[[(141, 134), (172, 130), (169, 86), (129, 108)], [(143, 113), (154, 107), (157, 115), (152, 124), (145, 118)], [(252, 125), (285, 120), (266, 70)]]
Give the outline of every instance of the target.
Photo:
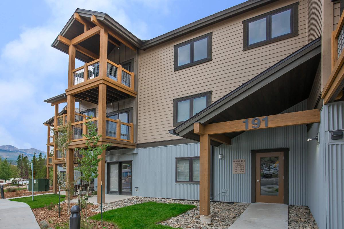
[(251, 203), (229, 229), (288, 229), (288, 205)]

